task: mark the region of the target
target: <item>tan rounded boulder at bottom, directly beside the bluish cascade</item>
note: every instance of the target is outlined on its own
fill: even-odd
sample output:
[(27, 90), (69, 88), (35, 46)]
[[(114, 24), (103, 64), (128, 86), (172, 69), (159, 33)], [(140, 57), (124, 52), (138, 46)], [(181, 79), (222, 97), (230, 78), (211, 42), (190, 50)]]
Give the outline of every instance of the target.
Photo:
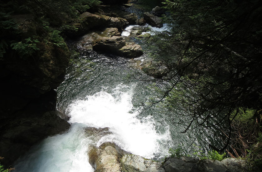
[(114, 143), (103, 143), (99, 147), (90, 146), (89, 163), (95, 172), (121, 172), (120, 159), (129, 152), (119, 148)]

